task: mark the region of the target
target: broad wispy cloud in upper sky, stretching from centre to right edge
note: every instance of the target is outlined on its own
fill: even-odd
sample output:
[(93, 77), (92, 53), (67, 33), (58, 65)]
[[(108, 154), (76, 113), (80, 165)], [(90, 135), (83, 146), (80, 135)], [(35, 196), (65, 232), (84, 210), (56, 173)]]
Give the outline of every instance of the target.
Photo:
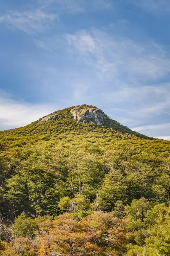
[(170, 59), (165, 58), (161, 46), (148, 42), (141, 44), (125, 37), (110, 36), (92, 29), (66, 35), (72, 52), (79, 52), (85, 64), (99, 71), (105, 79), (126, 77), (127, 81), (161, 79), (170, 73)]

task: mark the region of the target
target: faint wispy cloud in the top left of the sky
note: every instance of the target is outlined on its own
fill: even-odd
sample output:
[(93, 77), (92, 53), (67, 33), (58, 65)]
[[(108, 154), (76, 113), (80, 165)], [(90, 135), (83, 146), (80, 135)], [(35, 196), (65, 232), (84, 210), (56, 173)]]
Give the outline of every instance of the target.
[(58, 15), (48, 14), (40, 9), (26, 12), (10, 11), (0, 16), (0, 23), (6, 23), (28, 34), (43, 32), (54, 20), (58, 20)]

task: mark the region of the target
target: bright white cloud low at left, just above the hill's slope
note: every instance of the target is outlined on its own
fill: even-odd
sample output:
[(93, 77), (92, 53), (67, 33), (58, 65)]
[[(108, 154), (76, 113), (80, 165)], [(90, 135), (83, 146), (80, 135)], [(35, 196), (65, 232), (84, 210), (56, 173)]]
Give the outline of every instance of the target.
[(52, 105), (17, 102), (0, 91), (0, 130), (27, 125), (55, 110)]

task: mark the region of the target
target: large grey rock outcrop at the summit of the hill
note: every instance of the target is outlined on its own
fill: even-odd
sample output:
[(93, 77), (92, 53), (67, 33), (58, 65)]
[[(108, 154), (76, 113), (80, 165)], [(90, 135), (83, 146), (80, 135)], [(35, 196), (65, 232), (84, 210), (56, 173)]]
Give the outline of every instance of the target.
[(71, 109), (73, 120), (84, 123), (94, 123), (102, 125), (105, 119), (105, 113), (99, 108), (82, 108), (82, 106)]

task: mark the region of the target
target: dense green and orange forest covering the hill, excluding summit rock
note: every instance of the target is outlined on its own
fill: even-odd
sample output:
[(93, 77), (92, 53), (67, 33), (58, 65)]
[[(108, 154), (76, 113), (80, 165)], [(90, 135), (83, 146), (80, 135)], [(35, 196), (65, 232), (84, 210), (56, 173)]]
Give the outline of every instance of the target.
[(170, 255), (170, 141), (72, 108), (0, 131), (0, 255)]

